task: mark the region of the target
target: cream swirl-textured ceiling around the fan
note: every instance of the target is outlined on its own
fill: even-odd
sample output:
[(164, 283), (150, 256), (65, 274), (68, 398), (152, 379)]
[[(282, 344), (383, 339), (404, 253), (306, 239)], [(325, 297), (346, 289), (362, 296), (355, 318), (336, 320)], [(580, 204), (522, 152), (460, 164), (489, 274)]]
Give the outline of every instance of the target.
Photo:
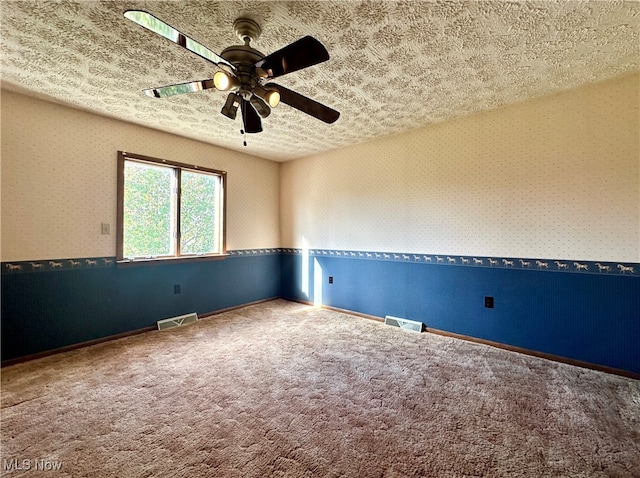
[[(640, 68), (637, 1), (7, 1), (2, 82), (98, 114), (286, 161), (548, 95)], [(215, 67), (126, 20), (146, 10), (216, 53), (235, 18), (262, 26), (265, 54), (304, 35), (331, 59), (277, 82), (341, 112), (327, 125), (280, 105), (247, 135), (215, 90), (141, 90)]]

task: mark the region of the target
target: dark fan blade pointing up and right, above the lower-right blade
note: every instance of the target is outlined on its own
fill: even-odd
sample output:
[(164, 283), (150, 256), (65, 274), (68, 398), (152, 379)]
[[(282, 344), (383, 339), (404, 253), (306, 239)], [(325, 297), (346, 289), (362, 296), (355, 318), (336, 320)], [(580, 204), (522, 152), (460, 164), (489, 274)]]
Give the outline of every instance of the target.
[(293, 71), (317, 65), (329, 59), (327, 49), (313, 37), (300, 38), (290, 45), (267, 55), (255, 64), (263, 69), (267, 78), (276, 78)]

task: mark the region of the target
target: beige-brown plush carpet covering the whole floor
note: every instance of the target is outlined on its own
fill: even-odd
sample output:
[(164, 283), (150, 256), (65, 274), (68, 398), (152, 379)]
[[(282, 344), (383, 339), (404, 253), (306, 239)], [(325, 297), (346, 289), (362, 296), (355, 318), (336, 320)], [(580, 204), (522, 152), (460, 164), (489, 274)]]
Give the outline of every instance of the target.
[(11, 477), (640, 476), (638, 381), (282, 300), (6, 367), (1, 417)]

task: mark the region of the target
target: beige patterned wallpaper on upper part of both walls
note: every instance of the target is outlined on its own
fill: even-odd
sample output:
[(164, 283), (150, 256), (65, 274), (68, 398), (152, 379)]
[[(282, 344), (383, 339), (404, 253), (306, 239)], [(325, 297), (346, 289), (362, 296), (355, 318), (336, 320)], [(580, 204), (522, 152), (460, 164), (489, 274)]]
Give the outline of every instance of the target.
[(639, 97), (626, 76), (279, 165), (3, 90), (1, 260), (115, 255), (123, 149), (228, 171), (229, 249), (640, 262)]

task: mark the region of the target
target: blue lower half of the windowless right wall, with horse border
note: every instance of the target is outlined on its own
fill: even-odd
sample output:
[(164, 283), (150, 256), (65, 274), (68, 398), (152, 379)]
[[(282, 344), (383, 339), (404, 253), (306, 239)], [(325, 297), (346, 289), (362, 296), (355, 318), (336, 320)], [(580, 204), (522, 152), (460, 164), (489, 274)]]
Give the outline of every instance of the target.
[(640, 373), (638, 264), (288, 250), (282, 295)]

